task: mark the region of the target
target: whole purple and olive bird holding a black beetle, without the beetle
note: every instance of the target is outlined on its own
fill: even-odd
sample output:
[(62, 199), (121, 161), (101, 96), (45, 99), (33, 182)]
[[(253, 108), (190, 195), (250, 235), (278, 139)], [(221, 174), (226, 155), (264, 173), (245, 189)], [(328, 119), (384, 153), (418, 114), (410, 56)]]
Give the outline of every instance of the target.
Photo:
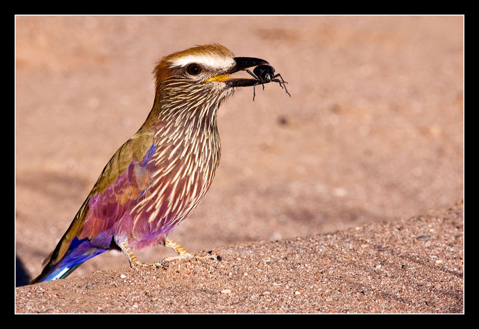
[[(258, 65), (269, 63), (235, 57), (218, 43), (163, 57), (152, 72), (155, 98), (146, 121), (106, 164), (30, 284), (65, 278), (107, 250), (123, 251), (132, 268), (165, 267), (178, 258), (221, 260), (193, 254), (168, 236), (198, 207), (218, 169), (220, 105), (239, 87), (258, 85), (229, 75)], [(178, 256), (147, 263), (133, 252), (160, 244)]]

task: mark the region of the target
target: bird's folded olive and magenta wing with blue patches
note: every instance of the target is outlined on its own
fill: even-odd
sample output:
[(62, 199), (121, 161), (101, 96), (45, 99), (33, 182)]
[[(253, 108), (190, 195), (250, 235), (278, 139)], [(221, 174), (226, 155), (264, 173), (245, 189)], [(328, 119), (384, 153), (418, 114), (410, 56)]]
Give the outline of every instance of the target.
[(149, 187), (154, 151), (152, 135), (141, 131), (116, 151), (58, 242), (47, 267), (54, 266), (85, 239), (94, 242), (95, 247), (111, 248), (113, 225)]

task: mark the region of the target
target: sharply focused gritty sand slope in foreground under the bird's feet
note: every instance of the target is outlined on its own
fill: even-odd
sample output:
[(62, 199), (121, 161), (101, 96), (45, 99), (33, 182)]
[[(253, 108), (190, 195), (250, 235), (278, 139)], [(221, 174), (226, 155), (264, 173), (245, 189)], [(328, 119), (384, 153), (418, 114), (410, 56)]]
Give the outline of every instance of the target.
[(461, 313), (462, 204), (331, 234), (240, 243), (221, 262), (96, 271), (17, 288), (17, 312)]

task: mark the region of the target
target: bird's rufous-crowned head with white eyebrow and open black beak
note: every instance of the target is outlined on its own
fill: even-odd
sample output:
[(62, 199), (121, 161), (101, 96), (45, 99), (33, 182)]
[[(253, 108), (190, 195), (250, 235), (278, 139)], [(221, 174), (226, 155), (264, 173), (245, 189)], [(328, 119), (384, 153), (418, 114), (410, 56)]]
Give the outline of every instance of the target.
[(164, 57), (153, 73), (156, 78), (155, 102), (190, 100), (200, 97), (221, 103), (235, 87), (253, 86), (255, 79), (231, 78), (240, 70), (269, 64), (253, 57), (235, 57), (220, 44), (207, 44)]

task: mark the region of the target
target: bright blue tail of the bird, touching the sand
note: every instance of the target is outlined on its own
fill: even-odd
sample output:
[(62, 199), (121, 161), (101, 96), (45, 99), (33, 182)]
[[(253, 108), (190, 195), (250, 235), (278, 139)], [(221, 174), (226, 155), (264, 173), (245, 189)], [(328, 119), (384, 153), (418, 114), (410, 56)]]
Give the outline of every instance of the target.
[(107, 249), (92, 246), (87, 239), (77, 240), (75, 238), (65, 255), (58, 261), (54, 261), (52, 257), (41, 274), (34, 278), (29, 284), (68, 277), (84, 261), (106, 250)]

